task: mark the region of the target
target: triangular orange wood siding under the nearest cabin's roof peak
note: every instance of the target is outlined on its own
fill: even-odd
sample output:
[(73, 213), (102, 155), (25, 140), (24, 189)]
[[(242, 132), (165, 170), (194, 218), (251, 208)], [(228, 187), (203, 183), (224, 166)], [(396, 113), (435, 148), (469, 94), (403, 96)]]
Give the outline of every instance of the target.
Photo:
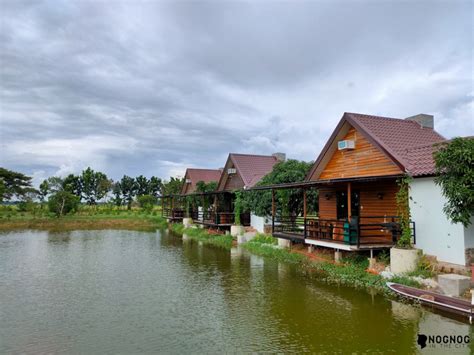
[[(336, 150), (320, 179), (400, 174), (400, 168), (353, 127), (344, 140), (354, 140), (355, 149)], [(336, 142), (337, 144), (337, 142)]]

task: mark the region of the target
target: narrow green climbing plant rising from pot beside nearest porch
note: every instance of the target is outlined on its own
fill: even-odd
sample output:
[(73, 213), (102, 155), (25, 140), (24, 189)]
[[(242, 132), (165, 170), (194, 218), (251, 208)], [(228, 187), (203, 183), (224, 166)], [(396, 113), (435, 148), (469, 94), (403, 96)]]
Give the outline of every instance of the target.
[(397, 246), (404, 249), (412, 248), (411, 244), (411, 228), (410, 228), (410, 204), (409, 204), (409, 189), (412, 178), (404, 176), (400, 178), (397, 183), (399, 190), (395, 195), (397, 201), (397, 213), (400, 217), (401, 235), (398, 239)]

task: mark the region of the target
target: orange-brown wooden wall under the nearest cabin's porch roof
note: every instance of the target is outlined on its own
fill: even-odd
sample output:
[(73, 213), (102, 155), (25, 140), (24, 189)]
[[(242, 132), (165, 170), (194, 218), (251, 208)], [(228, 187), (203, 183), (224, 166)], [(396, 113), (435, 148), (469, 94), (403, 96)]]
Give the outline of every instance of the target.
[[(352, 183), (352, 190), (360, 193), (360, 218), (361, 223), (382, 222), (379, 219), (364, 219), (367, 216), (396, 216), (397, 201), (395, 194), (398, 191), (396, 181), (380, 181), (373, 183), (357, 184)], [(331, 187), (324, 187), (319, 190), (319, 217), (321, 219), (336, 219), (336, 191), (347, 191), (347, 184), (338, 184)], [(331, 194), (331, 198), (326, 200), (326, 194)], [(378, 194), (382, 193), (383, 198), (379, 199)]]

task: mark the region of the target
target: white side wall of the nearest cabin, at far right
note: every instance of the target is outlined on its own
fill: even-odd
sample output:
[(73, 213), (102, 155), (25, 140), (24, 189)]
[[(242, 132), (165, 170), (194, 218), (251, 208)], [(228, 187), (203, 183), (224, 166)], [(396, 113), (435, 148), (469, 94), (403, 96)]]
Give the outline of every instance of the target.
[[(436, 256), (438, 261), (465, 265), (465, 228), (459, 223), (452, 224), (444, 214), (446, 199), (434, 178), (414, 179), (410, 184), (410, 197), (416, 247)], [(472, 233), (472, 230), (467, 232)], [(472, 239), (471, 235), (470, 242)]]

